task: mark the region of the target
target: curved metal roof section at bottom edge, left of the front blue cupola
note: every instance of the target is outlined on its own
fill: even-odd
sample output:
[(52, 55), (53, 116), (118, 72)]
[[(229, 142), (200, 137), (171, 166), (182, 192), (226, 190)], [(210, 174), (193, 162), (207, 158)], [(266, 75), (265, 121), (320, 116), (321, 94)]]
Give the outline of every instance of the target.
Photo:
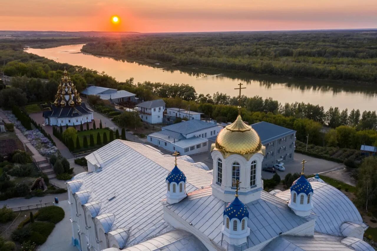
[(203, 243), (192, 234), (183, 230), (173, 230), (166, 234), (154, 237), (146, 242), (123, 249), (123, 251), (206, 251)]

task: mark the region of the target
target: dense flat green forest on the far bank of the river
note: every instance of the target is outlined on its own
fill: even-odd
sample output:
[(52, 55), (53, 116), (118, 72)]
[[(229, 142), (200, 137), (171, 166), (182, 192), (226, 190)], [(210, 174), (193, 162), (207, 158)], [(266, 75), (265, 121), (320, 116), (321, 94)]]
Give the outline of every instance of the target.
[(173, 66), (369, 83), (377, 80), (377, 33), (366, 31), (140, 34), (89, 42), (82, 51)]

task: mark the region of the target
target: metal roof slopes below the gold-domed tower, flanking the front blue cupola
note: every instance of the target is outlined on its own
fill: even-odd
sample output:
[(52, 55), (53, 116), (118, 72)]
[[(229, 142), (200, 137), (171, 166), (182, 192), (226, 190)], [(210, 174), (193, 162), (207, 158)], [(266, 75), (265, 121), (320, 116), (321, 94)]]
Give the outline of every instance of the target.
[[(208, 187), (190, 193), (181, 202), (166, 207), (219, 246), (228, 249), (225, 240), (221, 241), (223, 212), (226, 205), (227, 203), (213, 196), (212, 188)], [(250, 227), (250, 236), (247, 238), (249, 247), (308, 222), (308, 219), (295, 215), (285, 201), (265, 191), (261, 192), (260, 199), (247, 203), (246, 206), (249, 211), (247, 222)], [(246, 249), (247, 245), (244, 246), (243, 249)]]

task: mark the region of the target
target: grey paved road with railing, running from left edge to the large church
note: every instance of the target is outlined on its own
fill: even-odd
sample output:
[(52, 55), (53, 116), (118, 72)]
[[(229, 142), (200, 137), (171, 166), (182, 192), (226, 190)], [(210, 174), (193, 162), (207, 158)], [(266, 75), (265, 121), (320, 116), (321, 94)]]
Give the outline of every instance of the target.
[(43, 203), (53, 202), (54, 198), (58, 197), (59, 201), (68, 200), (68, 194), (50, 194), (44, 197), (32, 197), (30, 199), (25, 198), (13, 198), (9, 200), (0, 201), (0, 207), (6, 205), (7, 207), (24, 207), (30, 205), (40, 204), (39, 200), (42, 200)]

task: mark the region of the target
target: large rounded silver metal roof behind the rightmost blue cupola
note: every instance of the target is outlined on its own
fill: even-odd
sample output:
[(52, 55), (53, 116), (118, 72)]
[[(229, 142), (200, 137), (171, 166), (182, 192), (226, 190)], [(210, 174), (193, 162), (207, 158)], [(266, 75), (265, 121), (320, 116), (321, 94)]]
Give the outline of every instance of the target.
[[(363, 224), (363, 219), (355, 205), (339, 189), (321, 182), (310, 182), (310, 184), (314, 190), (312, 197), (314, 215), (310, 217), (316, 218), (317, 232), (342, 236), (340, 226), (344, 222)], [(288, 201), (291, 198), (291, 191), (288, 189), (275, 196)]]

